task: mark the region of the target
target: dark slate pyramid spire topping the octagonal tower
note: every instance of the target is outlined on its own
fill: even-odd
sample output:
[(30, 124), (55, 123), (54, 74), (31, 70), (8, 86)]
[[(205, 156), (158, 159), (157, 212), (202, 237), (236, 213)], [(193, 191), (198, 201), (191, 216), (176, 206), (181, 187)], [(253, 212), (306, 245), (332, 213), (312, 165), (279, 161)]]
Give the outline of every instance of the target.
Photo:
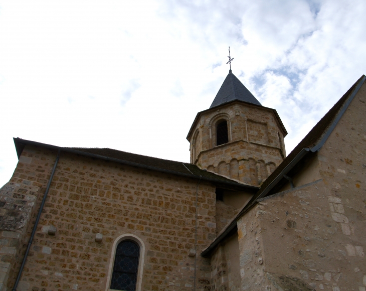
[(243, 83), (240, 82), (230, 70), (210, 108), (233, 100), (241, 100), (262, 106), (256, 97), (254, 97), (253, 94), (249, 92)]

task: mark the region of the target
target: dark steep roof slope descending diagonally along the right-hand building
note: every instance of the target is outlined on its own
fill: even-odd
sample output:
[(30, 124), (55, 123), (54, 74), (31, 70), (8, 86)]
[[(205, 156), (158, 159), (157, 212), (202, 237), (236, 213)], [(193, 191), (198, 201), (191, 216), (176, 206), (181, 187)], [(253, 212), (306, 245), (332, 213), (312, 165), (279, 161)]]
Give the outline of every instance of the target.
[[(366, 81), (366, 76), (362, 75), (349, 90), (334, 104), (332, 108), (319, 120), (318, 123), (309, 131), (309, 133), (299, 142), (292, 150), (287, 158), (276, 168), (275, 171), (264, 181), (258, 192), (252, 199), (239, 211), (237, 216), (221, 231), (219, 236), (201, 253), (207, 257), (210, 252), (222, 241), (228, 233), (237, 227), (237, 220), (244, 215), (252, 206), (257, 203), (257, 199), (269, 195), (270, 190), (276, 184), (280, 184), (285, 180), (286, 175), (293, 167), (296, 166), (307, 153), (318, 151), (329, 137), (331, 131), (342, 117), (348, 105), (358, 92), (361, 85)], [(287, 180), (286, 180), (287, 181)], [(269, 189), (269, 190), (268, 190)], [(268, 190), (268, 191), (267, 191)]]

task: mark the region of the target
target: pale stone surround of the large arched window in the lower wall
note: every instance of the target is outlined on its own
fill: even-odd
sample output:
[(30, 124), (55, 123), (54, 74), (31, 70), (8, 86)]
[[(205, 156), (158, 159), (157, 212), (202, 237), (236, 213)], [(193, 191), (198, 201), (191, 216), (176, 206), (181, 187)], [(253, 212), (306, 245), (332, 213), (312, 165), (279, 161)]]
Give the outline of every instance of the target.
[(140, 247), (140, 256), (139, 256), (139, 260), (138, 260), (138, 270), (137, 270), (137, 279), (136, 279), (136, 291), (141, 291), (142, 290), (143, 265), (144, 265), (144, 258), (145, 258), (145, 244), (141, 238), (139, 238), (138, 236), (131, 234), (131, 233), (122, 234), (114, 240), (114, 243), (112, 246), (112, 252), (111, 252), (111, 259), (109, 262), (107, 285), (105, 287), (105, 291), (115, 290), (115, 289), (110, 288), (111, 280), (112, 280), (112, 273), (113, 273), (113, 266), (114, 266), (114, 258), (116, 255), (117, 245), (123, 240), (132, 240), (135, 243), (137, 243), (138, 246)]

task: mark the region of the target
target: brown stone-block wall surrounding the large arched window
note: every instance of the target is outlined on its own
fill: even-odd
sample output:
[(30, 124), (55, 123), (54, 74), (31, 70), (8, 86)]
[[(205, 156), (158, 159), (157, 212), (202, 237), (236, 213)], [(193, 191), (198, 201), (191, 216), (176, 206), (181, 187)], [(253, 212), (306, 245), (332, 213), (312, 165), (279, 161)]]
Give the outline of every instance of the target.
[[(43, 159), (56, 152), (27, 146), (11, 183), (38, 181), (49, 171)], [(34, 171), (34, 167), (41, 172)], [(44, 188), (42, 177), (37, 187)], [(192, 290), (195, 201), (198, 181), (122, 164), (61, 153), (43, 214), (21, 278), (22, 290), (105, 290), (111, 246), (121, 234), (145, 246), (142, 290)], [(216, 236), (215, 186), (199, 186), (198, 253)], [(40, 201), (40, 200), (39, 200)], [(37, 208), (37, 207), (36, 207)], [(27, 234), (32, 230), (33, 214)], [(56, 235), (47, 233), (49, 226)], [(4, 232), (3, 232), (4, 233)], [(103, 234), (95, 242), (96, 233)], [(24, 241), (22, 253), (26, 247)], [(210, 261), (197, 257), (197, 290), (209, 290)], [(14, 277), (8, 280), (8, 288)]]

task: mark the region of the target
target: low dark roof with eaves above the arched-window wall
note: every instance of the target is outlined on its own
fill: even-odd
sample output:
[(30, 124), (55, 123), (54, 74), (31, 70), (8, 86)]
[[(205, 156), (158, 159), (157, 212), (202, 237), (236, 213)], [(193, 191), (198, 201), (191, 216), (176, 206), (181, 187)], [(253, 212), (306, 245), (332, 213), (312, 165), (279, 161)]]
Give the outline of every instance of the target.
[(180, 176), (191, 177), (195, 179), (201, 179), (211, 181), (213, 183), (220, 183), (230, 185), (231, 187), (246, 189), (247, 191), (258, 190), (258, 187), (244, 185), (237, 181), (225, 178), (220, 175), (216, 175), (211, 172), (201, 170), (199, 167), (189, 163), (175, 162), (170, 160), (163, 160), (148, 156), (142, 156), (137, 154), (131, 154), (127, 152), (112, 150), (112, 149), (98, 149), (98, 148), (63, 148), (56, 145), (36, 142), (32, 140), (26, 140), (22, 138), (14, 138), (14, 143), (17, 150), (18, 158), (21, 156), (26, 144), (36, 145), (38, 147), (51, 148), (61, 150), (62, 152), (69, 152), (73, 154), (113, 161), (130, 166), (140, 167), (144, 169), (159, 171), (163, 173), (175, 174)]

